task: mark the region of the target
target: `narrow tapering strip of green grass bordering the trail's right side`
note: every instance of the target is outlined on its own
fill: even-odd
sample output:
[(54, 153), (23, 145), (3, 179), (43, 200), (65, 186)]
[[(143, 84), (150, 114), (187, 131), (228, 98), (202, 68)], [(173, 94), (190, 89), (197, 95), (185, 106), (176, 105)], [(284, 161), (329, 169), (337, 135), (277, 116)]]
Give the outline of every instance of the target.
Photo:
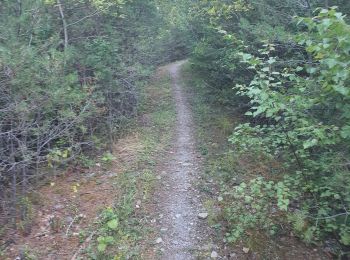
[(204, 157), (203, 178), (197, 185), (206, 197), (204, 206), (209, 213), (208, 223), (217, 234), (217, 242), (222, 243), (228, 224), (223, 212), (233, 203), (223, 198), (244, 178), (238, 167), (239, 158), (228, 142), (240, 117), (225, 105), (208, 98), (210, 87), (191, 70), (190, 65), (183, 68), (182, 75), (194, 114), (197, 149)]

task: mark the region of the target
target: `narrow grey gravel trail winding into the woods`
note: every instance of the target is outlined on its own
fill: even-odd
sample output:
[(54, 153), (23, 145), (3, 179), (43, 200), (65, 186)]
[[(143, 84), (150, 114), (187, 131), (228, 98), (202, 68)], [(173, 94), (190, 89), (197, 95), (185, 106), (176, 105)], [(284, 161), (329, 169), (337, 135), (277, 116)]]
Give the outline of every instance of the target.
[[(200, 240), (205, 239), (198, 214), (202, 212), (198, 191), (193, 182), (198, 177), (199, 156), (195, 149), (193, 120), (180, 83), (179, 70), (184, 61), (170, 64), (176, 103), (176, 130), (172, 150), (162, 166), (162, 181), (158, 190), (158, 210), (161, 217), (162, 259), (195, 259)], [(159, 242), (159, 241), (158, 241)]]

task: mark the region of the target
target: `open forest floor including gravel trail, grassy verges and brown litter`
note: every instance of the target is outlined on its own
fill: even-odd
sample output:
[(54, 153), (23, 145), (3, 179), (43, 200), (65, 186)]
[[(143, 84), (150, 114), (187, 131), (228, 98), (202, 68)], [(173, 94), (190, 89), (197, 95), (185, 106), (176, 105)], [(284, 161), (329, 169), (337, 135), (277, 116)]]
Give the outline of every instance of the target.
[(208, 167), (234, 124), (198, 101), (184, 63), (161, 67), (140, 90), (138, 120), (112, 156), (31, 194), (31, 231), (5, 232), (0, 259), (327, 259), (290, 238), (226, 243), (222, 179)]

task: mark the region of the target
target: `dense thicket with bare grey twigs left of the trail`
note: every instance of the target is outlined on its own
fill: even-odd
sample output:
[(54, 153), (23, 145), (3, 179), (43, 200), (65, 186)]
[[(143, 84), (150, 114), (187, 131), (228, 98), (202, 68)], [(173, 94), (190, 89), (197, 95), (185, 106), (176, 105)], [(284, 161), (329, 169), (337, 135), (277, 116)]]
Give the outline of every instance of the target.
[(18, 222), (34, 180), (108, 149), (135, 115), (137, 87), (166, 61), (161, 21), (152, 0), (1, 2), (1, 224)]

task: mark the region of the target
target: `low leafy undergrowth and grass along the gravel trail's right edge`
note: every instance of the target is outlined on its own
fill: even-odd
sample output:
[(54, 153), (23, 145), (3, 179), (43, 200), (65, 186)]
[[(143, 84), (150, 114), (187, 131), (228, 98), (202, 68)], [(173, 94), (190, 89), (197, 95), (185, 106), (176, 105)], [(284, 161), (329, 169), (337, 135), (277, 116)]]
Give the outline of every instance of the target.
[[(293, 180), (282, 182), (278, 177), (285, 170), (283, 165), (259, 151), (237, 153), (228, 139), (245, 118), (234, 107), (209, 100), (210, 86), (190, 63), (182, 74), (196, 121), (197, 149), (205, 162), (204, 180), (199, 186), (207, 194), (208, 223), (217, 232), (218, 243), (224, 241), (225, 247), (238, 250), (249, 248), (263, 259), (279, 259), (291, 251), (287, 246), (281, 249), (283, 243), (279, 241), (288, 237), (287, 243), (298, 248), (297, 254), (312, 252), (289, 238), (294, 231), (288, 222), (301, 224), (297, 218), (287, 218), (286, 207), (293, 194), (285, 183)], [(289, 257), (298, 257), (289, 253)]]

